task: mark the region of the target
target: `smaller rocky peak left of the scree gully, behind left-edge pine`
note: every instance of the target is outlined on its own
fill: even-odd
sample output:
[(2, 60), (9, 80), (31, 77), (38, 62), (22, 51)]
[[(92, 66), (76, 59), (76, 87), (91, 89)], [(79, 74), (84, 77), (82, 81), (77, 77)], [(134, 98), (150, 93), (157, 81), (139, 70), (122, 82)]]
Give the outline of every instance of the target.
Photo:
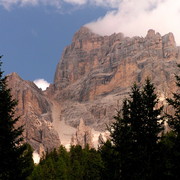
[(23, 136), (40, 154), (60, 145), (52, 126), (50, 101), (33, 82), (22, 80), (16, 73), (8, 75), (13, 98), (18, 100), (16, 114), (19, 125), (24, 125)]

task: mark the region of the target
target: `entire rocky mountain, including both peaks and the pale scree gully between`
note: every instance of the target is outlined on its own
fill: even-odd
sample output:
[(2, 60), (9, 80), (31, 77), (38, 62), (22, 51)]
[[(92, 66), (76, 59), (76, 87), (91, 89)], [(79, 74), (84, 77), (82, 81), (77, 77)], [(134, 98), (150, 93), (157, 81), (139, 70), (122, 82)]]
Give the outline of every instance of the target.
[[(77, 127), (85, 125), (92, 131), (78, 129), (79, 134), (91, 132), (92, 141), (97, 141), (132, 84), (142, 85), (147, 77), (157, 88), (160, 104), (166, 106), (165, 98), (176, 90), (174, 74), (179, 62), (180, 48), (172, 33), (161, 36), (149, 30), (146, 37), (129, 38), (122, 33), (100, 36), (82, 27), (64, 49), (54, 83), (46, 91), (19, 77), (13, 80), (15, 85), (9, 84), (19, 99), (18, 113), (23, 115), (26, 131), (34, 129), (26, 139), (35, 149), (42, 145), (47, 149), (60, 141), (70, 143), (72, 136), (79, 137)], [(17, 75), (9, 78), (13, 76)], [(83, 126), (79, 126), (81, 119)]]

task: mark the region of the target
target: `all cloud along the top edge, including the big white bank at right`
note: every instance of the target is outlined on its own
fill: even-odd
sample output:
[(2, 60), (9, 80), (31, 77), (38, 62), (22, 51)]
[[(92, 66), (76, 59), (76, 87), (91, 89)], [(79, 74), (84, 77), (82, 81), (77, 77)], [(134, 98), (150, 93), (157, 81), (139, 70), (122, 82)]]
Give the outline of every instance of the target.
[(63, 5), (106, 7), (107, 13), (86, 24), (93, 32), (110, 35), (122, 32), (126, 36), (145, 36), (149, 29), (161, 35), (172, 32), (180, 45), (180, 0), (0, 0), (0, 6), (10, 10), (14, 6)]

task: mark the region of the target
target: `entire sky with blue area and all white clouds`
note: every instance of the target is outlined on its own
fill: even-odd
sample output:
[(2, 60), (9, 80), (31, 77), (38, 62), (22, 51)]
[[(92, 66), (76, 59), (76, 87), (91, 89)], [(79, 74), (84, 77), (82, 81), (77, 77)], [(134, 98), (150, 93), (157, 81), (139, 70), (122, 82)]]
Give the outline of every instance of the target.
[(0, 0), (2, 68), (45, 89), (81, 26), (129, 37), (144, 37), (149, 29), (172, 32), (180, 45), (179, 19), (180, 0)]

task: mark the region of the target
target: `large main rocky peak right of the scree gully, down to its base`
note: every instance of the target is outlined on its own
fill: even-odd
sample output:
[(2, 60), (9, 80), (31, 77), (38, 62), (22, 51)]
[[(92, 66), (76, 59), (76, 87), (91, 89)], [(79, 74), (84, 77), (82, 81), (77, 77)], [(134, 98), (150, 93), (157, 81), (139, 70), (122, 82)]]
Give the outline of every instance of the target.
[(172, 33), (149, 30), (146, 37), (129, 38), (121, 33), (99, 36), (82, 27), (65, 48), (47, 94), (61, 104), (66, 123), (76, 127), (83, 118), (102, 130), (134, 82), (149, 77), (159, 97), (170, 96), (179, 59)]

